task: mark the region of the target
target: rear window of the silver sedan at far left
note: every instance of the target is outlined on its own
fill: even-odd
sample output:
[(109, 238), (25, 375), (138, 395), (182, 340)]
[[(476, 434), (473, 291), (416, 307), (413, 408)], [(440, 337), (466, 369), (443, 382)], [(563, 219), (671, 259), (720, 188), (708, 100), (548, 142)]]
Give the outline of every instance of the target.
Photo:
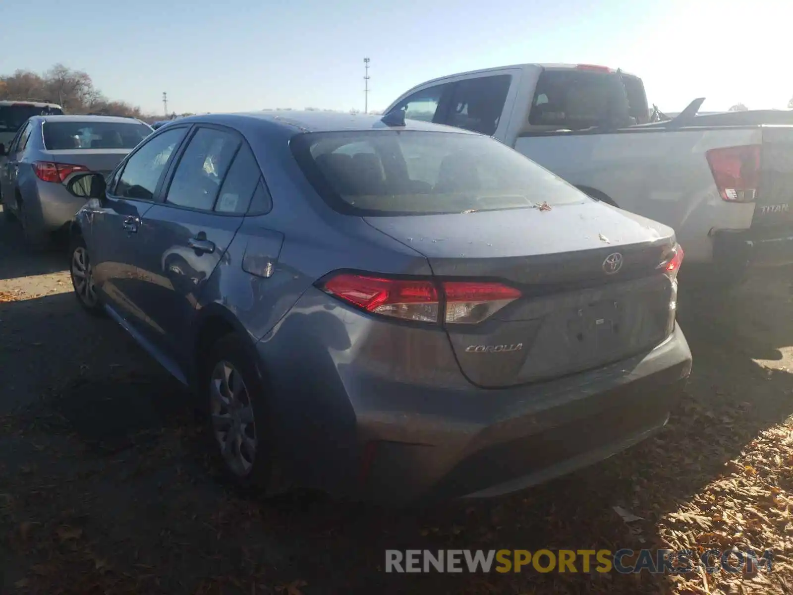
[(151, 129), (139, 122), (44, 122), (44, 147), (64, 149), (131, 149)]

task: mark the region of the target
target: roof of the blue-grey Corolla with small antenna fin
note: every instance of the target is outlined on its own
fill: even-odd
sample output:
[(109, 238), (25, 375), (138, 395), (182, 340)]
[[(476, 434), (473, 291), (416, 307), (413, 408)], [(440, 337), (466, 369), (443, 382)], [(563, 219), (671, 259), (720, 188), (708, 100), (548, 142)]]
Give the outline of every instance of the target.
[[(261, 111), (245, 113), (209, 113), (199, 116), (180, 117), (174, 124), (205, 122), (207, 124), (230, 125), (247, 128), (251, 125), (267, 124), (275, 128), (300, 132), (352, 132), (364, 130), (423, 130), (428, 132), (455, 132), (476, 134), (467, 130), (431, 124), (418, 120), (405, 120), (404, 126), (389, 126), (381, 121), (382, 116), (372, 114), (350, 114), (319, 111)], [(170, 122), (169, 122), (170, 125)]]

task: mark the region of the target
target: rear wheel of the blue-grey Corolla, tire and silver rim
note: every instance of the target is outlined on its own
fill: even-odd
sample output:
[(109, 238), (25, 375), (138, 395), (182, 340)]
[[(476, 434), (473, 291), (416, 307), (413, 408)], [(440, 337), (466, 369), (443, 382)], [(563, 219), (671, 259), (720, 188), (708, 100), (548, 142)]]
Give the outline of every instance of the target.
[(224, 478), (238, 489), (266, 495), (274, 485), (266, 382), (236, 334), (216, 341), (201, 371), (209, 446)]

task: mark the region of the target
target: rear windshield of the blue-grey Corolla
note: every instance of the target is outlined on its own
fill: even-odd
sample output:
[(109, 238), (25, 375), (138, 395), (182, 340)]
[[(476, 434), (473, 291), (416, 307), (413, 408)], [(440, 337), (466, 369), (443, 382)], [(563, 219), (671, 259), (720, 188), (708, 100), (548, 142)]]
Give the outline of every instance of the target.
[(431, 215), (538, 208), (589, 200), (488, 136), (372, 130), (295, 136), (293, 153), (342, 213)]

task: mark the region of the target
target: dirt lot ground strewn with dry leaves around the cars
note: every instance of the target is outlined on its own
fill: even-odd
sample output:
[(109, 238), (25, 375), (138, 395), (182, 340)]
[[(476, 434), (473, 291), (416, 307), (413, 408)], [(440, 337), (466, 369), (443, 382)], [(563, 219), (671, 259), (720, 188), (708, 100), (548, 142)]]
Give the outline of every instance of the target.
[[(793, 591), (787, 271), (682, 301), (694, 373), (657, 439), (510, 497), (387, 510), (221, 486), (189, 397), (115, 324), (82, 313), (62, 254), (20, 245), (0, 224), (2, 593)], [(383, 571), (385, 549), (733, 546), (773, 549), (772, 572)]]

